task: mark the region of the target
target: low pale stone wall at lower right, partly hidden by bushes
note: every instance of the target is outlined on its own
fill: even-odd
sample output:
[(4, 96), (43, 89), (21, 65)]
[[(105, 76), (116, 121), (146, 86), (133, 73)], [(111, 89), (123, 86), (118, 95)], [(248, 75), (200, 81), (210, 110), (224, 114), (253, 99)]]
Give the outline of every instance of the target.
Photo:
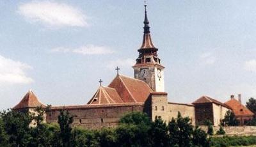
[[(202, 130), (207, 132), (207, 126), (200, 126)], [(213, 127), (214, 134), (220, 127)], [(225, 135), (256, 135), (256, 126), (236, 126), (236, 127), (223, 127)]]

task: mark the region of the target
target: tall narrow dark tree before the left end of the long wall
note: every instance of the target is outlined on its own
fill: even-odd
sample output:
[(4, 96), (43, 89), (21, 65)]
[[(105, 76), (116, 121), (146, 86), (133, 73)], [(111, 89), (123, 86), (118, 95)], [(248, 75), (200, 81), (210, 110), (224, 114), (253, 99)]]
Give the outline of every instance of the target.
[(58, 116), (58, 124), (60, 125), (60, 132), (58, 133), (59, 146), (71, 146), (72, 137), (72, 123), (74, 121), (73, 116), (63, 109), (60, 110)]

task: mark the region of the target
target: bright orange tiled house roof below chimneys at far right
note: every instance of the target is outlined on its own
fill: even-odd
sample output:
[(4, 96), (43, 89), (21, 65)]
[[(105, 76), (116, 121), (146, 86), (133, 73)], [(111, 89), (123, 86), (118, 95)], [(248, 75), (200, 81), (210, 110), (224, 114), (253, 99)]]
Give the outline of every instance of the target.
[(232, 109), (236, 116), (253, 116), (253, 112), (238, 102), (235, 98), (231, 98), (225, 102), (225, 104)]

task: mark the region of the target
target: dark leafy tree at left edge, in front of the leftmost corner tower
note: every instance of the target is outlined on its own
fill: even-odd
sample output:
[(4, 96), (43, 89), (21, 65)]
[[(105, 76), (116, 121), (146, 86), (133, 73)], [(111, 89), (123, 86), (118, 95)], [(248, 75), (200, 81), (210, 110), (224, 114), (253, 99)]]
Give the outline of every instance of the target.
[(4, 130), (9, 136), (11, 146), (28, 146), (31, 140), (31, 128), (29, 124), (33, 120), (33, 115), (29, 112), (3, 111)]

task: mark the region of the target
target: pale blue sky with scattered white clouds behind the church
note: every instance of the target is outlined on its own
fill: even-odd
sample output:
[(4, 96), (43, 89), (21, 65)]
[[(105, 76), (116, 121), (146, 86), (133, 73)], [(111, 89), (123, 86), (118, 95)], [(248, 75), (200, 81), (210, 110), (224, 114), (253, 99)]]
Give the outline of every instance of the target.
[[(170, 102), (256, 97), (256, 1), (148, 1)], [(120, 73), (133, 77), (143, 0), (0, 1), (0, 109), (32, 89), (51, 105), (86, 104)], [(236, 96), (237, 97), (237, 96)]]

